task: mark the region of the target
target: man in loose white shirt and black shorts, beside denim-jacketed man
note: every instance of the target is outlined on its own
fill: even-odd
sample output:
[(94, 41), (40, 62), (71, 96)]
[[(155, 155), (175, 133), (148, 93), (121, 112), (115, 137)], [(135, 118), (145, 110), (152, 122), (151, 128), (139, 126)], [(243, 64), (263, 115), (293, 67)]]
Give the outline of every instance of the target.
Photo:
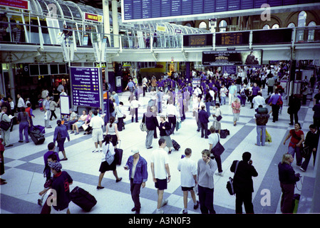
[(167, 189), (167, 182), (170, 182), (169, 158), (165, 147), (167, 146), (165, 139), (160, 138), (158, 141), (159, 148), (153, 151), (151, 155), (151, 172), (153, 173), (153, 182), (158, 189), (158, 205), (157, 214), (163, 214), (161, 207), (167, 204), (167, 199), (163, 200), (163, 193)]

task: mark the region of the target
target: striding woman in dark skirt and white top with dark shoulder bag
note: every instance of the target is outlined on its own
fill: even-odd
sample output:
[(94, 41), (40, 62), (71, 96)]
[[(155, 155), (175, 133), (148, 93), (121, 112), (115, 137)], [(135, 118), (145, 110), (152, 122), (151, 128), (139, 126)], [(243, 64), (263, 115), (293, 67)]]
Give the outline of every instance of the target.
[[(101, 165), (100, 165), (100, 175), (99, 175), (99, 181), (97, 189), (103, 189), (104, 187), (101, 186), (101, 181), (103, 179), (103, 175), (105, 175), (106, 171), (113, 171), (113, 175), (115, 176), (115, 182), (120, 182), (122, 180), (122, 177), (118, 177), (118, 173), (116, 170), (116, 164), (115, 164), (115, 148), (113, 147), (113, 144), (111, 142), (112, 138), (110, 135), (105, 135), (105, 138), (103, 139), (102, 143), (102, 150), (103, 150), (103, 157), (101, 159)], [(111, 143), (110, 143), (111, 142)], [(108, 154), (107, 154), (108, 153)], [(110, 159), (111, 157), (111, 159)], [(112, 159), (113, 157), (113, 159)]]

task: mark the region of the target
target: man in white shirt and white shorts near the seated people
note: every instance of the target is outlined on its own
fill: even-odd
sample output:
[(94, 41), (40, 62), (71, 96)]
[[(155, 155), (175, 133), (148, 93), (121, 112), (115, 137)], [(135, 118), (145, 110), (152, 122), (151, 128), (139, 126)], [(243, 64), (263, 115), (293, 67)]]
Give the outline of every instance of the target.
[(95, 142), (95, 147), (96, 147), (96, 150), (93, 150), (93, 152), (98, 152), (98, 142), (100, 145), (100, 152), (102, 152), (103, 125), (105, 125), (103, 118), (100, 118), (100, 116), (98, 116), (97, 110), (93, 110), (93, 118), (91, 118), (90, 120), (90, 126), (93, 129), (92, 140), (93, 142)]

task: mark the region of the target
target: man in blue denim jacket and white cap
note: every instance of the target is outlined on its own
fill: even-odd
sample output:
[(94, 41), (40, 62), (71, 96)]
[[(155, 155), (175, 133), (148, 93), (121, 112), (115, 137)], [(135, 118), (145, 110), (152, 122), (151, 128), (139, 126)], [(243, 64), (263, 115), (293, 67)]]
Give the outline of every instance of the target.
[(148, 163), (140, 156), (138, 148), (131, 150), (131, 156), (125, 164), (125, 170), (129, 170), (130, 191), (135, 207), (131, 209), (135, 214), (140, 214), (140, 188), (145, 187), (145, 182), (148, 180)]

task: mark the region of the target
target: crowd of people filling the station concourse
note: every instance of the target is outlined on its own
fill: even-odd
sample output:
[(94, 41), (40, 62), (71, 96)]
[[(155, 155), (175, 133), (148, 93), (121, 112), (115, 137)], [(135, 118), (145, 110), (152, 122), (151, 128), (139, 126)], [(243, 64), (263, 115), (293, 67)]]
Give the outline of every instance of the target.
[[(287, 66), (287, 65), (284, 65)], [(150, 168), (152, 172), (153, 182), (155, 182), (155, 188), (158, 190), (158, 204), (156, 213), (163, 213), (161, 207), (167, 204), (167, 199), (163, 199), (164, 191), (167, 189), (167, 185), (170, 182), (170, 167), (169, 156), (172, 147), (175, 147), (175, 142), (170, 135), (175, 133), (176, 126), (185, 120), (185, 113), (192, 112), (197, 124), (197, 131), (200, 132), (201, 138), (208, 139), (208, 149), (202, 150), (202, 159), (198, 162), (194, 162), (190, 159), (192, 150), (190, 148), (185, 149), (185, 157), (180, 160), (177, 169), (181, 172), (181, 187), (184, 197), (183, 213), (187, 213), (187, 195), (191, 193), (192, 201), (194, 203), (194, 209), (200, 207), (202, 213), (215, 213), (213, 207), (213, 195), (214, 185), (213, 177), (215, 173), (214, 162), (216, 160), (218, 172), (217, 175), (223, 176), (222, 163), (220, 155), (216, 152), (216, 145), (220, 142), (223, 118), (221, 106), (229, 105), (232, 110), (234, 126), (237, 125), (241, 108), (245, 107), (247, 103), (251, 105), (250, 108), (255, 110), (254, 119), (257, 124), (257, 146), (264, 146), (266, 140), (266, 125), (268, 123), (270, 114), (272, 113), (272, 122), (279, 121), (279, 112), (282, 110), (284, 89), (279, 83), (280, 79), (288, 76), (288, 68), (278, 66), (272, 73), (270, 67), (264, 67), (259, 69), (251, 69), (247, 71), (247, 75), (243, 77), (243, 73), (237, 76), (228, 76), (219, 72), (213, 73), (212, 71), (196, 72), (192, 71), (192, 77), (186, 78), (180, 76), (178, 73), (172, 73), (171, 76), (167, 74), (160, 79), (155, 76), (143, 78), (141, 83), (138, 83), (136, 78), (130, 79), (128, 86), (125, 90), (129, 90), (129, 108), (131, 115), (131, 122), (138, 121), (138, 110), (141, 108), (140, 95), (145, 96), (146, 93), (150, 93), (150, 101), (147, 105), (147, 110), (143, 113), (142, 123), (140, 125), (141, 130), (146, 132), (145, 147), (147, 149), (153, 148), (153, 139), (158, 138), (157, 129), (159, 130), (160, 139), (158, 140), (158, 148), (152, 152), (150, 160)], [(192, 79), (199, 78), (200, 83), (192, 83)], [(262, 97), (262, 90), (267, 86), (267, 98)], [(319, 86), (318, 86), (319, 88)], [(314, 88), (311, 88), (312, 90)], [(19, 96), (18, 96), (19, 98)], [(88, 115), (86, 111), (83, 111), (82, 115), (77, 120), (77, 115), (73, 110), (70, 110), (70, 116), (61, 120), (57, 120), (57, 127), (54, 130), (53, 145), (52, 142), (48, 145), (48, 151), (54, 154), (54, 148), (56, 142), (58, 142), (58, 150), (56, 150), (56, 157), (48, 156), (44, 157), (45, 165), (51, 170), (53, 174), (53, 184), (51, 188), (56, 191), (61, 188), (62, 185), (66, 186), (63, 182), (67, 180), (68, 185), (71, 185), (72, 178), (67, 172), (61, 171), (62, 160), (68, 160), (66, 152), (64, 150), (63, 143), (66, 139), (70, 140), (70, 134), (78, 134), (79, 128), (85, 130), (85, 134), (90, 134), (92, 130), (92, 140), (95, 145), (93, 152), (101, 152), (102, 161), (100, 165), (100, 175), (98, 177), (97, 189), (101, 190), (104, 187), (101, 185), (103, 175), (106, 171), (112, 170), (115, 176), (115, 182), (120, 182), (122, 177), (118, 177), (116, 170), (115, 148), (120, 141), (119, 132), (125, 129), (123, 119), (125, 118), (125, 109), (123, 108), (123, 101), (120, 101), (118, 94), (113, 92), (109, 94), (109, 112), (110, 118), (108, 123), (105, 123), (98, 110), (91, 110)], [(297, 98), (294, 96), (293, 98)], [(20, 98), (19, 98), (20, 99)], [(50, 105), (51, 97), (46, 95), (46, 100), (43, 101), (43, 110), (47, 119), (45, 120), (45, 127), (51, 128), (49, 124), (52, 117), (56, 117), (52, 108), (56, 107), (58, 103)], [(298, 99), (299, 100), (299, 99)], [(296, 165), (300, 167), (302, 172), (305, 172), (311, 155), (316, 158), (317, 143), (319, 141), (319, 119), (320, 119), (320, 89), (319, 93), (314, 96), (314, 124), (310, 125), (310, 131), (304, 138), (304, 132), (301, 130), (301, 125), (297, 117), (299, 112), (298, 107), (294, 107), (296, 102), (289, 103), (288, 113), (290, 115), (290, 125), (293, 125), (293, 118), (295, 120), (294, 129), (289, 131), (289, 135), (284, 140), (284, 145), (290, 138), (288, 150), (285, 151), (282, 162), (279, 163), (279, 180), (282, 188), (282, 212), (290, 213), (294, 188), (292, 185), (299, 180), (299, 175), (294, 173), (293, 168), (290, 166), (296, 155)], [(228, 103), (227, 103), (228, 102)], [(299, 100), (300, 102), (300, 100)], [(1, 100), (1, 120), (11, 123), (9, 115), (10, 110), (7, 108), (7, 100), (4, 98)], [(22, 103), (22, 101), (20, 101)], [(18, 102), (19, 104), (19, 102)], [(26, 111), (24, 105), (17, 105), (19, 109), (19, 132), (20, 140), (23, 142), (22, 131), (26, 142), (28, 142), (27, 128), (32, 125), (32, 109)], [(267, 107), (271, 106), (271, 110)], [(296, 105), (299, 106), (299, 105)], [(10, 105), (8, 107), (11, 107)], [(211, 108), (212, 107), (212, 108)], [(29, 107), (30, 108), (30, 107)], [(51, 111), (50, 111), (51, 110)], [(53, 111), (53, 113), (52, 113)], [(10, 114), (9, 114), (10, 113)], [(8, 115), (9, 114), (9, 115)], [(160, 114), (160, 122), (158, 121), (158, 114)], [(50, 116), (50, 117), (49, 117)], [(211, 127), (209, 118), (213, 118)], [(135, 120), (135, 121), (134, 121)], [(144, 126), (143, 126), (144, 125)], [(2, 126), (2, 123), (1, 123)], [(105, 127), (105, 133), (103, 128)], [(209, 128), (209, 129), (208, 129)], [(10, 130), (1, 129), (1, 138), (4, 141), (6, 147), (11, 146), (9, 137)], [(98, 148), (98, 145), (100, 146)], [(168, 148), (168, 152), (165, 150)], [(306, 149), (306, 150), (305, 150)], [(63, 153), (63, 159), (59, 160), (58, 151)], [(129, 171), (130, 178), (130, 191), (134, 202), (133, 212), (140, 213), (140, 187), (145, 187), (145, 182), (148, 180), (148, 168), (147, 161), (139, 154), (138, 148), (131, 150), (131, 155), (125, 165), (125, 170)], [(3, 161), (4, 147), (1, 144), (1, 161)], [(305, 157), (302, 163), (303, 157)], [(3, 162), (1, 162), (3, 165)], [(3, 169), (1, 168), (1, 171)], [(252, 192), (253, 192), (253, 180), (252, 177), (257, 177), (258, 173), (254, 169), (251, 160), (251, 153), (244, 152), (241, 161), (234, 161), (230, 168), (231, 172), (234, 172), (234, 190), (236, 192), (236, 212), (242, 213), (242, 204), (247, 213), (254, 213), (252, 204)], [(61, 173), (63, 173), (64, 180), (62, 181)], [(3, 174), (3, 172), (1, 173)], [(293, 177), (293, 176), (294, 177)], [(47, 171), (47, 177), (50, 177), (50, 173)], [(292, 177), (291, 177), (292, 176)], [(5, 181), (1, 179), (1, 185)], [(197, 196), (194, 191), (194, 187), (197, 185)], [(49, 187), (50, 188), (50, 187)], [(48, 189), (49, 189), (48, 188)], [(47, 190), (48, 190), (47, 189)], [(60, 191), (61, 192), (61, 191)], [(44, 190), (41, 192), (43, 195)], [(70, 202), (70, 192), (61, 192), (61, 198), (63, 202), (59, 202), (58, 206), (51, 208), (51, 212), (69, 212), (68, 203)], [(59, 194), (58, 194), (59, 197)]]

